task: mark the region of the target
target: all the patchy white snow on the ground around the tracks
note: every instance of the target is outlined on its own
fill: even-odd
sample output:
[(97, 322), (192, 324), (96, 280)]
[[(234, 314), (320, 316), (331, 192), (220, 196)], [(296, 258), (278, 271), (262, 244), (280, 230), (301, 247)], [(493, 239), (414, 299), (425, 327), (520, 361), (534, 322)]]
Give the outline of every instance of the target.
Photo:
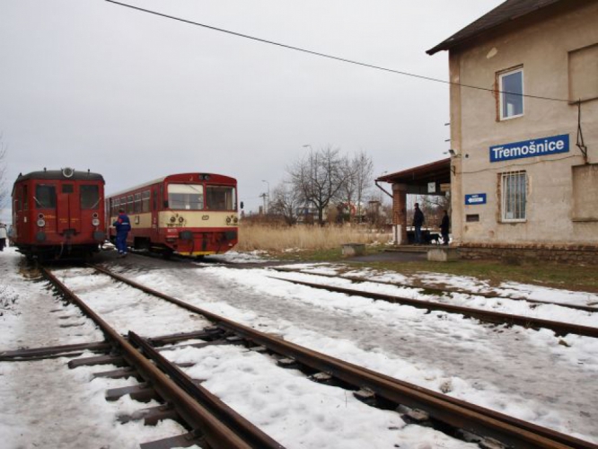
[[(259, 255), (247, 261), (256, 259)], [(400, 304), (316, 291), (274, 279), (281, 274), (268, 269), (157, 263), (134, 255), (127, 260), (104, 260), (108, 268), (140, 283), (255, 329), (598, 442), (593, 419), (598, 415), (598, 387), (594, 382), (598, 345), (594, 339), (558, 339), (547, 330), (482, 325), (460, 315), (426, 313)], [(0, 254), (0, 352), (101, 339), (100, 332), (76, 308), (52, 297), (44, 284), (23, 277), (20, 263), (11, 250)], [(303, 269), (324, 274), (347, 270), (341, 265), (320, 264), (306, 264)], [(361, 271), (365, 277), (374, 278), (372, 272)], [(355, 276), (356, 272), (350, 274)], [(311, 276), (301, 276), (312, 281)], [(409, 280), (399, 281), (400, 276), (383, 273), (376, 277)], [(192, 318), (174, 305), (118, 286), (101, 275), (90, 276), (87, 269), (65, 270), (60, 278), (123, 333), (136, 330), (155, 336), (206, 325), (203, 319)], [(444, 280), (453, 282), (450, 277)], [(330, 281), (321, 279), (323, 283)], [(463, 286), (462, 279), (454, 282)], [(470, 279), (471, 288), (487, 288), (476, 282)], [(358, 284), (350, 286), (356, 288)], [(538, 295), (532, 286), (515, 287)], [(367, 285), (368, 290), (371, 288), (374, 284)], [(375, 288), (386, 291), (387, 287)], [(388, 288), (393, 295), (401, 292), (430, 298), (414, 289)], [(471, 295), (443, 300), (480, 307), (488, 302)], [(505, 310), (524, 304), (500, 301)], [(542, 313), (558, 320), (564, 316), (560, 309), (542, 309)], [(584, 318), (584, 314), (578, 317)], [(271, 357), (242, 347), (179, 348), (163, 354), (177, 362), (196, 362), (185, 368), (189, 375), (204, 379), (205, 387), (289, 448), (476, 447), (426, 427), (406, 426), (394, 412), (369, 408), (350, 392), (312, 383), (295, 370), (277, 367)], [(0, 436), (8, 443), (6, 447), (33, 447), (45, 441), (45, 447), (128, 448), (183, 432), (171, 421), (158, 427), (119, 424), (119, 415), (151, 404), (128, 398), (109, 403), (104, 393), (135, 381), (92, 380), (92, 372), (111, 368), (69, 370), (66, 362), (63, 358), (0, 362)], [(36, 394), (39, 385), (44, 385), (43, 394)]]

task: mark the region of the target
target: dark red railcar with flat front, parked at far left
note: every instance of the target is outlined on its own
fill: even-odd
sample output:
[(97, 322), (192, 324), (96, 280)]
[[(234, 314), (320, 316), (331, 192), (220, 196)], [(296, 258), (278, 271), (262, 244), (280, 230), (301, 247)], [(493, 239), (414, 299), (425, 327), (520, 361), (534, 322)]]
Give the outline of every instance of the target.
[(71, 168), (20, 174), (11, 242), (27, 259), (87, 256), (104, 242), (104, 179)]

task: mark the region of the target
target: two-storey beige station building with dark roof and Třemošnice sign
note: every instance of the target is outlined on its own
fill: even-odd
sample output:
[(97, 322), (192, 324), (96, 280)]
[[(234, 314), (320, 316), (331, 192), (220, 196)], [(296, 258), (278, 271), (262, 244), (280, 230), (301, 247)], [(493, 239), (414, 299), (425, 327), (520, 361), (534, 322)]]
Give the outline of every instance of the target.
[(442, 50), (452, 245), (598, 262), (598, 1), (507, 0), (427, 53)]

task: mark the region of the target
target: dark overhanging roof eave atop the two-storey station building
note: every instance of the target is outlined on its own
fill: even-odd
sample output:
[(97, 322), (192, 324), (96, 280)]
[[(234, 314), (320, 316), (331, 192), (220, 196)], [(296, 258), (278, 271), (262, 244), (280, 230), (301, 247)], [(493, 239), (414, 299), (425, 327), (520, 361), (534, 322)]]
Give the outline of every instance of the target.
[(444, 40), (444, 42), (436, 45), (435, 48), (430, 48), (426, 53), (434, 55), (438, 51), (448, 50), (462, 42), (472, 40), (479, 36), (479, 34), (492, 30), (503, 23), (514, 21), (524, 15), (562, 1), (564, 0), (506, 0), (505, 3), (499, 4), (492, 11), (481, 16), (477, 21), (467, 25), (462, 31), (456, 32), (453, 36)]

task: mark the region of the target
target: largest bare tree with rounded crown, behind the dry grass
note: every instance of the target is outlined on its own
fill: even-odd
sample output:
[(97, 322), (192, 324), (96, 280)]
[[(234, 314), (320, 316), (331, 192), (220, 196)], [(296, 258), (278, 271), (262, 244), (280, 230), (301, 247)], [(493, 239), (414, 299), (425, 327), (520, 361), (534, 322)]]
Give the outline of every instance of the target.
[(318, 212), (320, 225), (324, 225), (324, 211), (331, 201), (339, 198), (339, 191), (346, 180), (346, 173), (340, 170), (340, 165), (339, 149), (332, 149), (329, 145), (311, 151), (286, 169), (299, 198)]

